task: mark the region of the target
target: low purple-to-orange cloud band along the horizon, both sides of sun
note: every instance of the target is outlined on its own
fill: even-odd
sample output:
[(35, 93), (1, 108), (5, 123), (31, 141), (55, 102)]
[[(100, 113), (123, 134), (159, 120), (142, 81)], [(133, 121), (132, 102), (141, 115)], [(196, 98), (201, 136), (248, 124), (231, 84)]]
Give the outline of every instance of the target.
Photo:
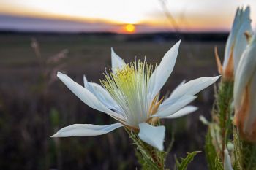
[[(114, 32), (125, 33), (124, 24), (113, 24), (91, 21), (72, 21), (63, 19), (48, 19), (35, 17), (21, 17), (15, 15), (0, 15), (0, 30), (7, 31), (42, 31), (42, 32)], [(171, 31), (169, 26), (152, 26), (151, 24), (137, 24), (136, 33), (151, 33)]]

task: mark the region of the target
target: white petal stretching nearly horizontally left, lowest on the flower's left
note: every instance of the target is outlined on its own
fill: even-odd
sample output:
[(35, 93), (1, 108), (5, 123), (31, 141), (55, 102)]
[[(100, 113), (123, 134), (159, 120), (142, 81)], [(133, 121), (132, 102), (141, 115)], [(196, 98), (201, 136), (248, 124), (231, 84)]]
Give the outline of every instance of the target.
[(52, 137), (69, 137), (69, 136), (97, 136), (108, 134), (108, 132), (120, 128), (124, 125), (115, 123), (111, 125), (91, 125), (91, 124), (74, 124), (61, 128)]

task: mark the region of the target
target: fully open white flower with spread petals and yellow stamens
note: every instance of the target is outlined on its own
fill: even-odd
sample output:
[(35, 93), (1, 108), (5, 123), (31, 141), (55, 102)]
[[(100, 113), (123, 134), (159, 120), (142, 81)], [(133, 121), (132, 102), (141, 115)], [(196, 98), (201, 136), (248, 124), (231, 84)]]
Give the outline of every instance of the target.
[(144, 142), (163, 150), (164, 126), (154, 126), (159, 118), (176, 118), (194, 112), (197, 107), (187, 106), (195, 94), (213, 84), (219, 77), (201, 77), (187, 83), (182, 82), (163, 101), (159, 91), (165, 85), (178, 55), (180, 41), (162, 58), (153, 72), (153, 66), (146, 61), (124, 63), (112, 50), (112, 71), (105, 74), (101, 85), (88, 82), (84, 87), (72, 81), (67, 75), (58, 73), (59, 79), (89, 107), (105, 112), (118, 121), (112, 125), (69, 125), (53, 137), (94, 136), (107, 134), (116, 128), (126, 126), (139, 132)]

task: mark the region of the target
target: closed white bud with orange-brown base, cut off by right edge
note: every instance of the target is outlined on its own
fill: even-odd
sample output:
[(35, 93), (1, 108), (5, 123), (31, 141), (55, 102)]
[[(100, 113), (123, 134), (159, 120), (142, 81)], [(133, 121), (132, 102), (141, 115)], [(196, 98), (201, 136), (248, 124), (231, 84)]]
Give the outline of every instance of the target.
[(256, 34), (238, 64), (234, 107), (234, 124), (238, 126), (239, 134), (250, 142), (256, 142)]

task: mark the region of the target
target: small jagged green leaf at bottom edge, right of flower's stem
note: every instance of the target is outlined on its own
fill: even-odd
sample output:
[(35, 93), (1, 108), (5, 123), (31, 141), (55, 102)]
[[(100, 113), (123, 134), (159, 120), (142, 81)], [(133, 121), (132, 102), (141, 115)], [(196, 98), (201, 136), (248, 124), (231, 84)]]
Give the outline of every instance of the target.
[(197, 153), (199, 153), (200, 151), (194, 151), (194, 152), (190, 152), (187, 153), (187, 157), (186, 158), (181, 158), (181, 161), (178, 161), (178, 159), (176, 158), (176, 167), (175, 169), (177, 170), (186, 170), (187, 166), (189, 166), (189, 163), (191, 163), (195, 157), (195, 155), (197, 155)]

